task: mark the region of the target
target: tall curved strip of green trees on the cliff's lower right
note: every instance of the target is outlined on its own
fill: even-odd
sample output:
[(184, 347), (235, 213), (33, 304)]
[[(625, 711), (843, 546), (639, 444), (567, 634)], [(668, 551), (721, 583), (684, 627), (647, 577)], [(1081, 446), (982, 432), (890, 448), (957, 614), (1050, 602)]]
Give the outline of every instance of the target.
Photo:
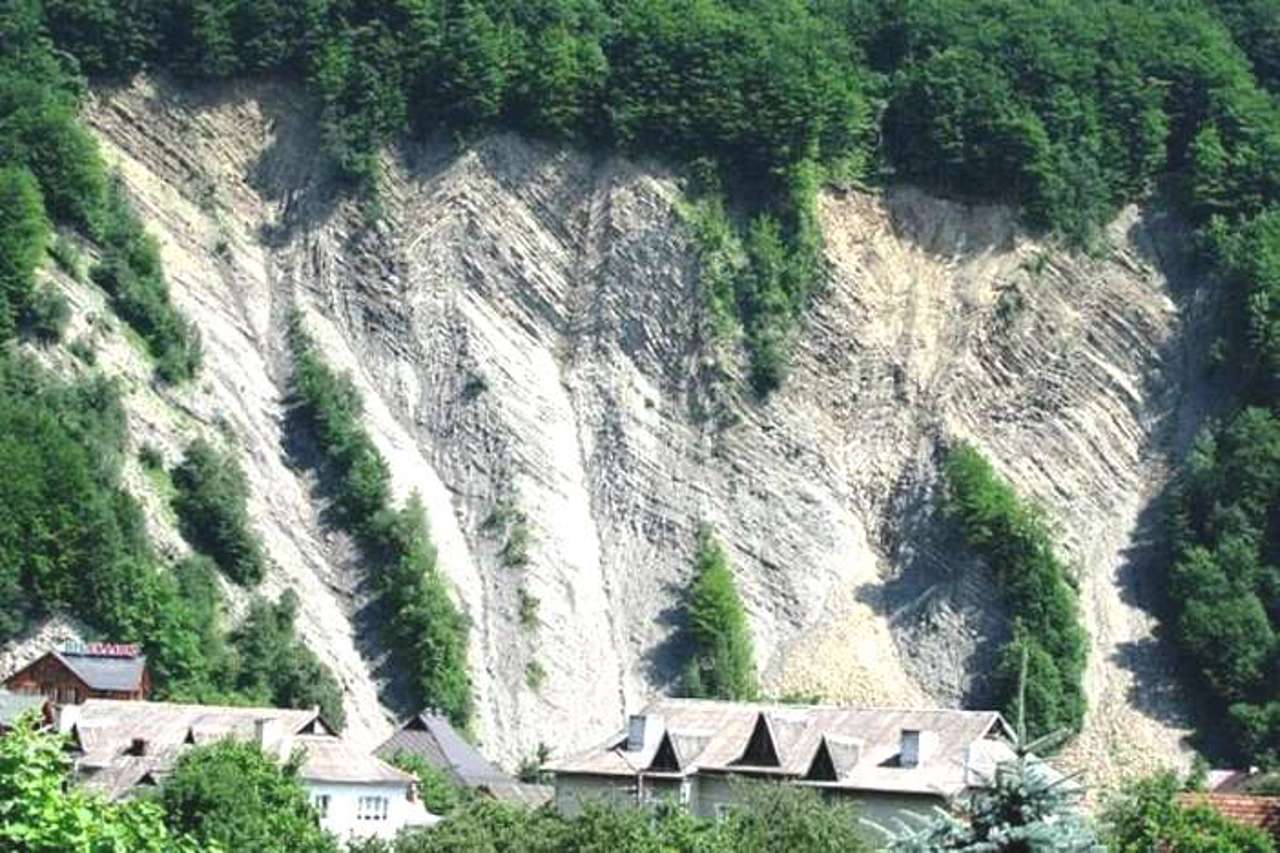
[[(969, 547), (996, 573), (1012, 615), (1012, 639), (1001, 651), (996, 674), (1005, 713), (1012, 720), (1024, 711), (1032, 738), (1079, 731), (1085, 710), (1088, 635), (1080, 622), (1075, 588), (1053, 553), (1043, 514), (1023, 502), (969, 444), (947, 453), (943, 476), (946, 511), (960, 523)], [(1025, 704), (1019, 708), (1024, 657)]]

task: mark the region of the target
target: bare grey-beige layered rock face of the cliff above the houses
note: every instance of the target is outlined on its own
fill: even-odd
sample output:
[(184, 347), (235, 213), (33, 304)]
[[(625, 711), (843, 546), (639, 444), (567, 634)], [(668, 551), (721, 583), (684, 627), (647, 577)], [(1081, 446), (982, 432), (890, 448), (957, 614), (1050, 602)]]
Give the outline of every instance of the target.
[(937, 511), (959, 439), (1043, 503), (1078, 567), (1094, 703), (1078, 753), (1116, 770), (1180, 754), (1147, 511), (1212, 400), (1175, 224), (1126, 210), (1087, 256), (1001, 207), (827, 196), (829, 286), (762, 403), (708, 342), (677, 182), (654, 164), (513, 136), (415, 147), (366, 227), (293, 90), (138, 83), (88, 119), (207, 350), (193, 387), (156, 392), (109, 348), (137, 379), (138, 441), (242, 448), (266, 589), (300, 590), (353, 734), (408, 708), (288, 416), (293, 309), (364, 391), (397, 493), (430, 512), (472, 622), (477, 734), (508, 765), (596, 742), (675, 684), (704, 521), (771, 693), (982, 702), (1007, 613)]

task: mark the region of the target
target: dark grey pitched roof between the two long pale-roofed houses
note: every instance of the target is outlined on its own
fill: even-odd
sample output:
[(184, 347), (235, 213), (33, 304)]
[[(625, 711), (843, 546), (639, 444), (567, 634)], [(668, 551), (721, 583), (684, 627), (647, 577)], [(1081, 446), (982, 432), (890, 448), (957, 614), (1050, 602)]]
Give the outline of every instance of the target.
[(548, 785), (529, 785), (502, 772), (480, 754), (449, 724), (443, 713), (428, 708), (410, 717), (378, 748), (387, 761), (397, 754), (416, 756), (439, 768), (454, 785), (486, 797), (536, 808), (552, 799)]

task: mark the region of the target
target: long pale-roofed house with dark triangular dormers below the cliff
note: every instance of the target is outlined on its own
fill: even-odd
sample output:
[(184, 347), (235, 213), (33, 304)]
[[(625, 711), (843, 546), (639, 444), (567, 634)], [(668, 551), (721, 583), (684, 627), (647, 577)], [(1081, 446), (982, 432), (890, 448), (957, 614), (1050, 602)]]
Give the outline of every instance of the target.
[(737, 779), (782, 781), (858, 804), (883, 822), (928, 816), (989, 784), (1014, 758), (995, 711), (842, 708), (659, 699), (596, 748), (552, 761), (556, 807), (671, 799), (721, 817)]

